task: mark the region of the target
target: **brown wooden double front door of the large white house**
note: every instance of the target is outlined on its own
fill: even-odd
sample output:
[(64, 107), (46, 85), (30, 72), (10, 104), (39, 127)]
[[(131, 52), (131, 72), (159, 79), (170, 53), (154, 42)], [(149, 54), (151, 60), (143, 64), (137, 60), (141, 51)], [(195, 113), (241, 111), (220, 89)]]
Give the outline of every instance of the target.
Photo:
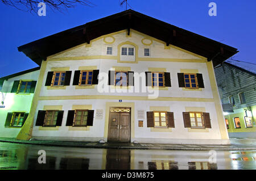
[(108, 141), (130, 142), (130, 112), (109, 113)]

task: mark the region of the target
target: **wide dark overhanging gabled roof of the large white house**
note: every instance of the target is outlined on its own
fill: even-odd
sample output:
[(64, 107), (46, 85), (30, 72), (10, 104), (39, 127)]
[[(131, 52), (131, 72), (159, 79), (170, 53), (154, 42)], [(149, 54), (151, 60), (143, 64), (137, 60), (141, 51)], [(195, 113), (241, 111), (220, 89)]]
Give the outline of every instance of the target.
[(41, 65), (42, 60), (63, 50), (75, 47), (82, 43), (90, 43), (102, 35), (130, 29), (142, 32), (148, 36), (183, 48), (213, 61), (213, 66), (224, 62), (236, 54), (236, 48), (222, 44), (207, 37), (197, 35), (182, 28), (162, 22), (158, 19), (141, 14), (137, 11), (126, 10), (107, 16), (93, 22), (44, 37), (31, 43), (18, 47), (20, 52), (26, 54), (36, 64)]

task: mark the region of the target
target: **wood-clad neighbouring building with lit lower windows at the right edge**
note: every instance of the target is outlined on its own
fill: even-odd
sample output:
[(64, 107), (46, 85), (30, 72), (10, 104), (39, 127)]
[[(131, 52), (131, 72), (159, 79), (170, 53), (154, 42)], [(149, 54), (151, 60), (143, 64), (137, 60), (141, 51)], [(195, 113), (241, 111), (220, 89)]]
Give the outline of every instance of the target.
[(227, 60), (214, 71), (229, 137), (256, 138), (256, 64)]

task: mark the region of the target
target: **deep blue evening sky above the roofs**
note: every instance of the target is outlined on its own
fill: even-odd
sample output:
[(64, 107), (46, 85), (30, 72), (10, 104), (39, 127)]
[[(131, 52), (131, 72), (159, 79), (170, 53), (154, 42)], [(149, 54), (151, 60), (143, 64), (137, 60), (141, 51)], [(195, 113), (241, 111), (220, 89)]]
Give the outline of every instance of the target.
[[(47, 9), (46, 16), (23, 12), (0, 2), (0, 77), (36, 65), (17, 47), (31, 41), (104, 18), (125, 10), (119, 0), (90, 0), (97, 6), (77, 6), (68, 12)], [(185, 30), (238, 48), (236, 60), (256, 63), (255, 0), (128, 0), (133, 10)], [(208, 4), (217, 4), (217, 16), (209, 16)]]

